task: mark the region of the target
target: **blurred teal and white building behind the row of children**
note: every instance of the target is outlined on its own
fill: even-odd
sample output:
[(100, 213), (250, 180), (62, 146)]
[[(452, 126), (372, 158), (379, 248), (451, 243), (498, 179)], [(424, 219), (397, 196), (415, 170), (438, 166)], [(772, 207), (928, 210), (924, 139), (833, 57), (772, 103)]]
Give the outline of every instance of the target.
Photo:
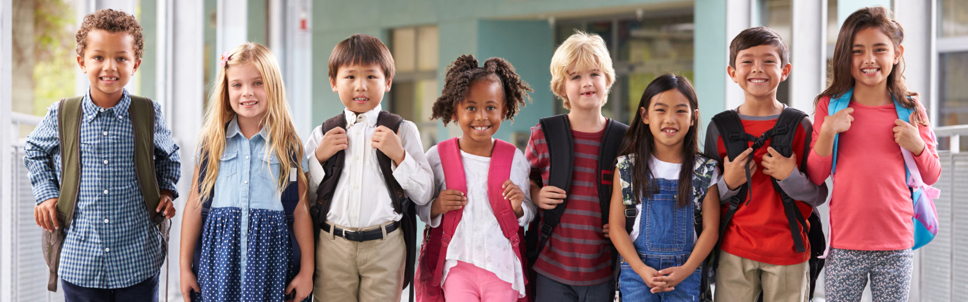
[[(729, 42), (742, 29), (769, 26), (790, 45), (793, 73), (777, 98), (812, 113), (814, 97), (826, 87), (839, 25), (873, 5), (892, 9), (905, 29), (904, 75), (921, 94), (945, 150), (936, 185), (943, 193), (935, 200), (942, 228), (916, 252), (911, 300), (960, 301), (968, 296), (968, 157), (959, 152), (968, 150), (968, 141), (959, 139), (968, 135), (968, 0), (3, 0), (0, 301), (63, 299), (45, 290), (41, 229), (21, 147), (47, 106), (86, 91), (74, 35), (83, 15), (96, 10), (136, 15), (144, 28), (144, 58), (128, 89), (163, 106), (182, 148), (179, 188), (188, 196), (218, 55), (247, 41), (268, 45), (279, 57), (305, 137), (343, 109), (327, 78), (333, 46), (354, 33), (380, 38), (398, 71), (383, 108), (417, 123), (424, 148), (460, 135), (457, 127), (429, 120), (447, 65), (467, 53), (481, 61), (503, 57), (535, 90), (533, 102), (497, 135), (523, 148), (539, 118), (565, 112), (548, 88), (548, 68), (556, 45), (576, 29), (602, 36), (610, 47), (618, 80), (603, 110), (607, 117), (628, 123), (629, 108), (650, 80), (673, 72), (693, 81), (705, 127), (713, 114), (742, 103), (741, 89), (726, 76)], [(175, 203), (182, 210), (185, 197)], [(177, 300), (180, 215), (173, 223), (166, 294)], [(823, 287), (817, 291), (815, 300), (823, 301)]]

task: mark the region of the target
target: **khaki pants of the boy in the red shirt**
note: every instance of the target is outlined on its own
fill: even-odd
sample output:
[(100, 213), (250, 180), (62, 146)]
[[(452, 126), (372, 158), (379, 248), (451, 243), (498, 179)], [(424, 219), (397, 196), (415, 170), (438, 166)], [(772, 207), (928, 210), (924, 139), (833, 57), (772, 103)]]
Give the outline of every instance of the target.
[(809, 298), (809, 265), (776, 265), (719, 252), (715, 301), (796, 302)]

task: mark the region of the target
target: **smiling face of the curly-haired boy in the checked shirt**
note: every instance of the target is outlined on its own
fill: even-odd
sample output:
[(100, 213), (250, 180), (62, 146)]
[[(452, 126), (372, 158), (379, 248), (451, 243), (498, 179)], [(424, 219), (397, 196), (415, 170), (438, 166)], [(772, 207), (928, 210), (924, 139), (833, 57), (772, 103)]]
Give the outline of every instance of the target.
[(141, 59), (135, 57), (135, 37), (103, 29), (87, 33), (84, 55), (76, 59), (80, 71), (91, 81), (91, 98), (96, 102), (121, 100), (124, 86), (141, 64)]

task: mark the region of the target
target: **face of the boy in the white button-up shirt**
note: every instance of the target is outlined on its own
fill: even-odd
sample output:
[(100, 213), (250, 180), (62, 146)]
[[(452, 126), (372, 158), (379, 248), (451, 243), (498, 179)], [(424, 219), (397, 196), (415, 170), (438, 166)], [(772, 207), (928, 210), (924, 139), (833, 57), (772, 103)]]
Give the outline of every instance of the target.
[(356, 113), (373, 110), (390, 91), (392, 78), (386, 78), (378, 64), (341, 66), (336, 78), (329, 78), (333, 92), (347, 109)]

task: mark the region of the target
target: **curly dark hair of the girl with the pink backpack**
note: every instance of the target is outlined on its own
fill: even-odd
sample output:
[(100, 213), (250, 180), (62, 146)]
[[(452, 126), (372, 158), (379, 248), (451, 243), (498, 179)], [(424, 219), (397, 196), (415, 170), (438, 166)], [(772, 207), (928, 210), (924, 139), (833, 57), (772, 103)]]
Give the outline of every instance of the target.
[(484, 61), (484, 67), (477, 67), (477, 59), (473, 55), (465, 54), (447, 66), (447, 76), (443, 81), (443, 90), (434, 103), (431, 119), (443, 121), (443, 125), (450, 122), (455, 108), (468, 94), (470, 83), (475, 80), (492, 80), (498, 82), (504, 91), (504, 118), (514, 120), (518, 113), (518, 106), (526, 106), (525, 100), (531, 100), (529, 91), (534, 91), (527, 82), (514, 72), (514, 66), (501, 58), (490, 58)]

